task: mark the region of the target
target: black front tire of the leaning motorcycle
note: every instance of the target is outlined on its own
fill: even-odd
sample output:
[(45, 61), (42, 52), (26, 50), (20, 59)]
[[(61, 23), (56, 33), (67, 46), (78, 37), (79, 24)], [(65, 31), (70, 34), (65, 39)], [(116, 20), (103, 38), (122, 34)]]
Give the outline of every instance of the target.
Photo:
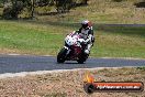
[(57, 63), (64, 63), (66, 61), (66, 48), (62, 48), (60, 52), (57, 55)]

